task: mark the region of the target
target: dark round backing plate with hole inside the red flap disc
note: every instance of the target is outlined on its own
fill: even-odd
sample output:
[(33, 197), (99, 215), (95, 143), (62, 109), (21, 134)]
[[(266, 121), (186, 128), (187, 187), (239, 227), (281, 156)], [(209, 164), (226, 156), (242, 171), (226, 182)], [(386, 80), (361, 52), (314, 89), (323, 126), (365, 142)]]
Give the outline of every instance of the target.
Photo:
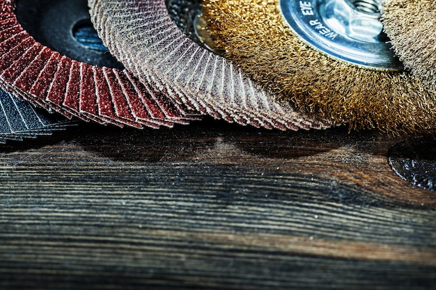
[(123, 70), (102, 45), (86, 0), (15, 0), (23, 29), (41, 45), (75, 61)]

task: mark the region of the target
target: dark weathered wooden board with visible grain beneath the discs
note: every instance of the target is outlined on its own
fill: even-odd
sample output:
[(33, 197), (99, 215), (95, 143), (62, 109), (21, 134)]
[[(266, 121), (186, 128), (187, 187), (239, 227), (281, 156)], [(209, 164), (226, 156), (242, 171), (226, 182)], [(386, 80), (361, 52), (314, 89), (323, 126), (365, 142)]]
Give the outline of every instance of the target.
[(435, 289), (401, 138), (212, 120), (1, 145), (0, 289)]

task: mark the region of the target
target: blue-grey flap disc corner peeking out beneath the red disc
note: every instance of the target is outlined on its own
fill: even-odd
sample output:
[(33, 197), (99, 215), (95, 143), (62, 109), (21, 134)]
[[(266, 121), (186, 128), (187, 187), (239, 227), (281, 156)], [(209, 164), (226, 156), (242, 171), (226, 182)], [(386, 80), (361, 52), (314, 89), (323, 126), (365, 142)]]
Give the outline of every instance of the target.
[(33, 108), (29, 102), (0, 90), (0, 143), (51, 135), (77, 124), (60, 116)]

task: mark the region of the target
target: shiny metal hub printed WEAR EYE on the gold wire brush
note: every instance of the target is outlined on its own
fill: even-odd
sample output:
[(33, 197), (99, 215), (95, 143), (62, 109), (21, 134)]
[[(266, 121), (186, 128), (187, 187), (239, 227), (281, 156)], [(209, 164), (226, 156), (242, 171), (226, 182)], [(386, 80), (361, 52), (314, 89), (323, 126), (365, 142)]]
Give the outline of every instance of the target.
[(340, 61), (401, 70), (380, 22), (380, 0), (280, 0), (291, 29), (309, 46)]

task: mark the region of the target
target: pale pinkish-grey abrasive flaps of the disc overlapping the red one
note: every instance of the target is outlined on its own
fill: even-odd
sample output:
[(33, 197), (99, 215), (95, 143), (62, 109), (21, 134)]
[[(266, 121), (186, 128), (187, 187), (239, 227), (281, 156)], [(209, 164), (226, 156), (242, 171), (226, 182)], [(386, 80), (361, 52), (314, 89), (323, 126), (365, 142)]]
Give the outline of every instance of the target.
[(116, 58), (143, 82), (178, 102), (229, 122), (255, 127), (327, 127), (274, 101), (226, 59), (183, 34), (164, 0), (90, 0), (91, 20)]

